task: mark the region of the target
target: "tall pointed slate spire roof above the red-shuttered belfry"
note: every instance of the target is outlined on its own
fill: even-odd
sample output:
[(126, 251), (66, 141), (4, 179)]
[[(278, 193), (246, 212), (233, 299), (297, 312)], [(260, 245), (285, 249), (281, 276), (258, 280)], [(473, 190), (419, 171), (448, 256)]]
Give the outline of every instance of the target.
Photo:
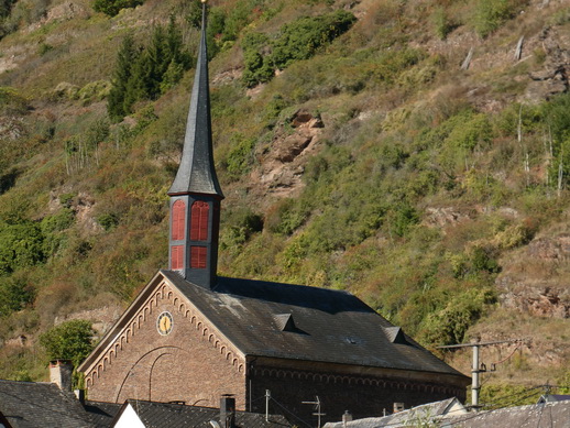
[(206, 6), (202, 6), (201, 37), (196, 75), (186, 123), (180, 165), (168, 195), (188, 193), (218, 195), (223, 198), (216, 169), (211, 140), (208, 53), (206, 48)]

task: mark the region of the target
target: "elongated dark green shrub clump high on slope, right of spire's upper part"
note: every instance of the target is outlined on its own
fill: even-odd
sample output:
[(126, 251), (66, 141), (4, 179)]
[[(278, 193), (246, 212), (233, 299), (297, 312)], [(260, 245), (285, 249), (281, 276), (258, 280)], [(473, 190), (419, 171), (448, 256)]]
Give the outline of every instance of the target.
[(352, 13), (337, 10), (285, 24), (275, 39), (261, 33), (248, 33), (242, 41), (245, 65), (243, 83), (252, 87), (271, 80), (276, 69), (311, 57), (321, 46), (346, 33), (355, 20)]

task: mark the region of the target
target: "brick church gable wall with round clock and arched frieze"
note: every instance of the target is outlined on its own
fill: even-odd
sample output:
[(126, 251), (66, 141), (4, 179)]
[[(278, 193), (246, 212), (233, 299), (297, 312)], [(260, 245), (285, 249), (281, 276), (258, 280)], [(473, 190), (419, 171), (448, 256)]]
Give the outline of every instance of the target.
[(244, 364), (241, 352), (157, 274), (79, 370), (89, 399), (217, 405), (221, 394), (243, 396)]

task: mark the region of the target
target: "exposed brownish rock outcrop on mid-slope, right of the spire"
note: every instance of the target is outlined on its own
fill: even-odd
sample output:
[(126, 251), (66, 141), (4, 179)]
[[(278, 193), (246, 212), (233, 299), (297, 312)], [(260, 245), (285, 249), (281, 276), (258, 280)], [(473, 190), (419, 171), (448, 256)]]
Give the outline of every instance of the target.
[(303, 109), (295, 112), (286, 124), (293, 128), (293, 132), (287, 132), (287, 127), (282, 125), (271, 147), (261, 155), (260, 169), (253, 173), (254, 180), (261, 183), (265, 194), (288, 196), (300, 188), (304, 163), (314, 152), (325, 128), (320, 117)]

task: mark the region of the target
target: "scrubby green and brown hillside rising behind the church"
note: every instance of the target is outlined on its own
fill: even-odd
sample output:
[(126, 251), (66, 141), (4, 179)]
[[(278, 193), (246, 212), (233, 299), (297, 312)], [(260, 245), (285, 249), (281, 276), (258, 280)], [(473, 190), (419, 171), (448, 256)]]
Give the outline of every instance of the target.
[[(1, 378), (166, 265), (197, 2), (96, 3), (0, 3)], [(350, 290), (467, 374), (436, 347), (524, 339), (487, 403), (570, 387), (568, 3), (209, 7), (220, 273)]]

